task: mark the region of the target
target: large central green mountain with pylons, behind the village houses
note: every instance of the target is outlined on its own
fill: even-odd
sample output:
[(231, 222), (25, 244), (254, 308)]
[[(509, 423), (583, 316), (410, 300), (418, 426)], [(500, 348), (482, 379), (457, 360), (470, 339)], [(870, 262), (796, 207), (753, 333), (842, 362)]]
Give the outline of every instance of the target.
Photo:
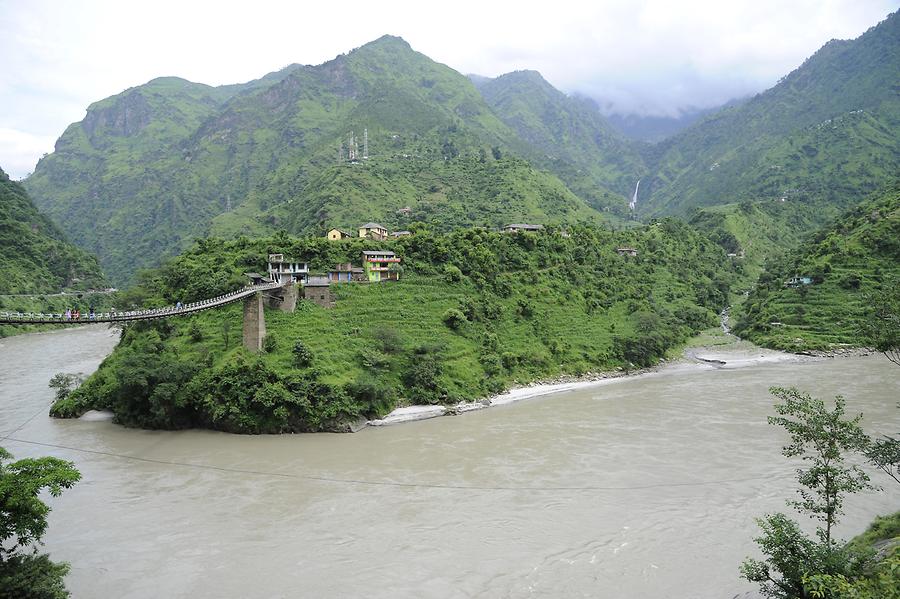
[(248, 84), (155, 79), (97, 102), (26, 186), (115, 281), (208, 234), (601, 218), (525, 145), (466, 77), (385, 36)]

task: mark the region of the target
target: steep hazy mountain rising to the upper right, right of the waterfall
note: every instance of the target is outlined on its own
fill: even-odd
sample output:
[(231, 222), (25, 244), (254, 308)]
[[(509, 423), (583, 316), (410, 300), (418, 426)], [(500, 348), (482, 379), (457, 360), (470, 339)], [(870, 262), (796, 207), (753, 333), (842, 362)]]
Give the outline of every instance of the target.
[(643, 214), (814, 194), (840, 207), (900, 172), (900, 13), (648, 154)]

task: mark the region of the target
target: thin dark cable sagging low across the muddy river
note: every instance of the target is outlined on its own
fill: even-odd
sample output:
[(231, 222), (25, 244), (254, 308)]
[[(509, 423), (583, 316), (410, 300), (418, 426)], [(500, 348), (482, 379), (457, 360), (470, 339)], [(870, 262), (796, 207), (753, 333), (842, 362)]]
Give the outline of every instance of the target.
[[(24, 426), (24, 424), (22, 426)], [(13, 431), (13, 432), (15, 432), (15, 431)], [(10, 434), (12, 434), (12, 433), (10, 433)], [(9, 439), (10, 441), (14, 441), (17, 443), (26, 443), (29, 445), (39, 445), (42, 447), (52, 447), (55, 449), (66, 449), (66, 450), (70, 450), (70, 451), (77, 451), (80, 453), (102, 455), (102, 456), (107, 456), (107, 457), (121, 458), (121, 459), (125, 459), (125, 460), (133, 460), (136, 462), (160, 464), (160, 465), (164, 465), (164, 466), (181, 466), (184, 468), (196, 468), (196, 469), (200, 469), (200, 470), (213, 470), (213, 471), (218, 471), (218, 472), (228, 472), (228, 473), (232, 473), (232, 474), (250, 474), (250, 475), (254, 475), (254, 476), (270, 476), (273, 478), (310, 480), (310, 481), (327, 482), (327, 483), (334, 483), (334, 484), (366, 485), (366, 486), (378, 486), (378, 487), (448, 489), (448, 490), (457, 490), (457, 491), (641, 491), (641, 490), (647, 490), (647, 489), (665, 489), (665, 488), (676, 488), (676, 487), (716, 486), (716, 485), (724, 485), (724, 484), (729, 484), (729, 483), (752, 482), (752, 481), (768, 479), (767, 476), (753, 476), (753, 477), (747, 477), (747, 478), (720, 479), (720, 480), (710, 480), (710, 481), (680, 482), (680, 483), (653, 483), (653, 484), (646, 484), (646, 485), (631, 485), (631, 486), (616, 486), (616, 487), (599, 486), (599, 485), (504, 486), (504, 485), (454, 485), (454, 484), (449, 484), (449, 483), (446, 483), (446, 484), (444, 484), (444, 483), (414, 483), (414, 482), (398, 482), (398, 481), (365, 480), (365, 479), (354, 479), (354, 478), (337, 478), (337, 477), (330, 477), (330, 476), (318, 476), (318, 475), (314, 475), (314, 474), (291, 474), (291, 473), (285, 473), (285, 472), (251, 470), (251, 469), (246, 469), (246, 468), (231, 468), (228, 466), (211, 466), (208, 464), (191, 464), (189, 462), (158, 460), (158, 459), (154, 459), (154, 458), (131, 456), (131, 455), (115, 453), (115, 452), (110, 452), (110, 451), (100, 451), (97, 449), (83, 449), (80, 447), (71, 447), (68, 445), (58, 445), (55, 443), (30, 441), (28, 439), (16, 439), (13, 437), (6, 437), (6, 438)]]

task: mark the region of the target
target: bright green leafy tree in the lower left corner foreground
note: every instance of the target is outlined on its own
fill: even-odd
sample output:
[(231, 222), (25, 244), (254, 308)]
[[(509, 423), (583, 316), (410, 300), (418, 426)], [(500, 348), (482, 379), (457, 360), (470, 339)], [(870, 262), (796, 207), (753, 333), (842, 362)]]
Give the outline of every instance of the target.
[(50, 507), (39, 495), (47, 490), (58, 497), (81, 479), (74, 464), (57, 458), (29, 458), (9, 462), (12, 454), (0, 447), (0, 596), (67, 597), (63, 577), (67, 564), (46, 555), (25, 553), (40, 544), (47, 530)]

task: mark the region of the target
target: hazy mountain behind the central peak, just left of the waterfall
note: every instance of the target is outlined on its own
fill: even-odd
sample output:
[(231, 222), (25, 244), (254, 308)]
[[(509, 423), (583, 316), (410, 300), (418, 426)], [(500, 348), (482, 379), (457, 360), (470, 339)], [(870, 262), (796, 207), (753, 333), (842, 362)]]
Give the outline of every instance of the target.
[(494, 113), (526, 142), (518, 148), (522, 155), (592, 206), (626, 213), (624, 198), (647, 167), (635, 144), (607, 123), (592, 100), (567, 96), (537, 71), (474, 81)]

